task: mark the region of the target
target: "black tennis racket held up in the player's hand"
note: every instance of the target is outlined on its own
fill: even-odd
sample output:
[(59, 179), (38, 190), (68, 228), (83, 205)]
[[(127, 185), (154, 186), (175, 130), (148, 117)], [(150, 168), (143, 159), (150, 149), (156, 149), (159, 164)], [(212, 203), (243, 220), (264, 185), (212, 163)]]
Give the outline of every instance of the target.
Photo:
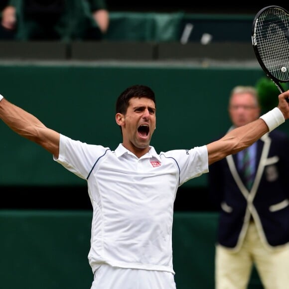
[(261, 9), (253, 21), (252, 44), (262, 69), (283, 93), (281, 83), (289, 82), (288, 11), (280, 6)]

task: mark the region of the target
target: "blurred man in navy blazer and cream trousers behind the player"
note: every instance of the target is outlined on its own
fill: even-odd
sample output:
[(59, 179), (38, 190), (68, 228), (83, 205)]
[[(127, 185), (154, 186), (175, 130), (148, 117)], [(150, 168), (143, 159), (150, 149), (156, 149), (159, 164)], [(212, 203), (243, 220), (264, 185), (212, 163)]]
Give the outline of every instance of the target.
[[(233, 126), (260, 117), (257, 90), (237, 86), (229, 100)], [(220, 209), (216, 255), (216, 289), (246, 289), (253, 264), (264, 288), (289, 288), (289, 138), (278, 130), (250, 147), (254, 174), (246, 187), (244, 151), (209, 166), (208, 185)]]

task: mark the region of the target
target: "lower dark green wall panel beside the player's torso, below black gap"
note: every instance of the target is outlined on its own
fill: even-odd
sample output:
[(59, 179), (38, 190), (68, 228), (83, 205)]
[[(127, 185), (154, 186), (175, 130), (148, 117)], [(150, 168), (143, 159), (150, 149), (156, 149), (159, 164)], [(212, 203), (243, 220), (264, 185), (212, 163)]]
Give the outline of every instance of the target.
[[(0, 288), (89, 289), (90, 211), (0, 211)], [(177, 289), (214, 288), (216, 213), (175, 213)], [(253, 275), (250, 289), (262, 288)]]

